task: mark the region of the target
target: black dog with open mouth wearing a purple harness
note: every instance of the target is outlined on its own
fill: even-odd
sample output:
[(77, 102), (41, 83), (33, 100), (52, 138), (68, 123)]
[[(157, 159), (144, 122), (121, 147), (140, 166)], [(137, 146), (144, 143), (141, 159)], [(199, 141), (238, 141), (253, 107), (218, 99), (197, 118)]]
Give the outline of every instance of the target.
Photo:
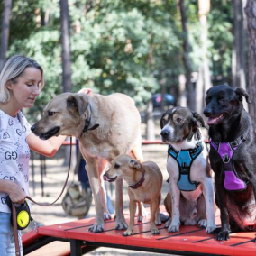
[(222, 226), (217, 240), (228, 240), (230, 232), (256, 230), (256, 145), (251, 117), (243, 109), (241, 87), (222, 85), (206, 92), (211, 139), (210, 162), (215, 171), (215, 202)]

